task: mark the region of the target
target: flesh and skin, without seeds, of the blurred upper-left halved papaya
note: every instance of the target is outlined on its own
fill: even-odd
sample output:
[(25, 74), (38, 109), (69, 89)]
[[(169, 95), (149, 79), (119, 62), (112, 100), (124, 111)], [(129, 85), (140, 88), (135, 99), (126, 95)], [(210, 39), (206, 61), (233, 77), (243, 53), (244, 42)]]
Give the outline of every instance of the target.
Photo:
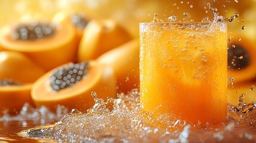
[(55, 34), (50, 38), (21, 41), (11, 38), (12, 25), (0, 31), (0, 46), (5, 50), (26, 54), (45, 70), (74, 61), (76, 57), (75, 29), (69, 23), (56, 23)]

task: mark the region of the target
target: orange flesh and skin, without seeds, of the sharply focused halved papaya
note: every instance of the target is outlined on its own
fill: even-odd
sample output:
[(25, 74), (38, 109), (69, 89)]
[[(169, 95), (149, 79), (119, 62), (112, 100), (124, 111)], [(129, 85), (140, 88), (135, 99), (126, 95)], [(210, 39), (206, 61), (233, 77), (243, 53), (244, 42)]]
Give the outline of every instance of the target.
[(95, 91), (98, 98), (106, 99), (115, 97), (115, 76), (110, 67), (90, 61), (90, 71), (85, 79), (72, 87), (53, 92), (50, 87), (52, 71), (44, 74), (33, 85), (31, 95), (37, 107), (45, 105), (55, 111), (58, 104), (68, 107), (69, 110), (76, 108), (87, 111), (95, 102), (91, 92)]

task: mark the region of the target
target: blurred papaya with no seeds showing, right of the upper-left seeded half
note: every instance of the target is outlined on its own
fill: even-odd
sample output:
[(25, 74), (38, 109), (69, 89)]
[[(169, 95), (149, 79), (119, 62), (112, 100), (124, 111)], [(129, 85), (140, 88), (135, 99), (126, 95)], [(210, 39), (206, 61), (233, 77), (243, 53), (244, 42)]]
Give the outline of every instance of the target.
[(132, 39), (131, 35), (112, 20), (91, 20), (84, 29), (78, 47), (78, 61), (95, 60), (104, 52)]

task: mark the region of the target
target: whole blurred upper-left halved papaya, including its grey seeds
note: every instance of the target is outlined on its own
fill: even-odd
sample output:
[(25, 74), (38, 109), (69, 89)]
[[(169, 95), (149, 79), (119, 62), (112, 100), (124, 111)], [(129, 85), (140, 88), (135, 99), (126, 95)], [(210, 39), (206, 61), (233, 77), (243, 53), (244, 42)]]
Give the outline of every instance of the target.
[(69, 23), (29, 21), (0, 31), (0, 46), (22, 52), (45, 70), (75, 60), (75, 29)]

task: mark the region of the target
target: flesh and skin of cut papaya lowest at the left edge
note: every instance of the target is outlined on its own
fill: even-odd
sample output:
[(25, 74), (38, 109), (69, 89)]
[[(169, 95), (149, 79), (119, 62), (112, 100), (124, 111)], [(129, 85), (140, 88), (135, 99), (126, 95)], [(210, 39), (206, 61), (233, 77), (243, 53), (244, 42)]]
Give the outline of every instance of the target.
[(17, 113), (25, 102), (35, 106), (30, 97), (31, 87), (32, 84), (0, 86), (0, 115), (4, 110), (8, 110), (8, 113)]

